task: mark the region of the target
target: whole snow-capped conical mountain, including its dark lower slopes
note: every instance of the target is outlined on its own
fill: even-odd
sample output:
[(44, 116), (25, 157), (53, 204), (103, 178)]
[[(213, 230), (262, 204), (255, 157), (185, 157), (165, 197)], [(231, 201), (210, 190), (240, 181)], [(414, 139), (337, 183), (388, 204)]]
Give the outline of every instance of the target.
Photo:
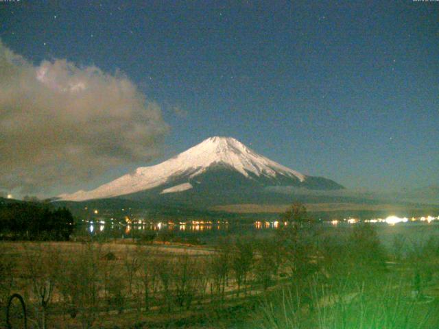
[[(221, 203), (247, 201), (267, 193), (268, 186), (335, 190), (342, 185), (327, 178), (304, 175), (278, 164), (230, 137), (211, 137), (187, 151), (91, 191), (62, 194), (64, 201), (123, 198)], [(237, 200), (240, 199), (240, 200)], [(231, 200), (233, 199), (233, 200)]]

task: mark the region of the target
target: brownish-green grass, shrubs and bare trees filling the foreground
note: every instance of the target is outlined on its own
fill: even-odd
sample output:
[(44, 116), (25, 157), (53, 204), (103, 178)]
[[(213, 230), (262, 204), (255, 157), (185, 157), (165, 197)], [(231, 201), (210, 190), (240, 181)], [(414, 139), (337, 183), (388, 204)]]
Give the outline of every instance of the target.
[[(263, 239), (215, 247), (3, 242), (1, 324), (11, 293), (29, 328), (438, 328), (439, 241), (372, 226), (324, 230), (293, 206)], [(18, 301), (12, 328), (23, 328)]]

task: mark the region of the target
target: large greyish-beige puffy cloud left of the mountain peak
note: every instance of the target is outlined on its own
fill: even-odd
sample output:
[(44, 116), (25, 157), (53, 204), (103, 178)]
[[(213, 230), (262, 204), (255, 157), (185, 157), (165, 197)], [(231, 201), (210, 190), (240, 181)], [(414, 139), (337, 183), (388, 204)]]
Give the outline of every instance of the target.
[(125, 75), (67, 60), (35, 66), (0, 41), (0, 187), (29, 193), (150, 160), (168, 129)]

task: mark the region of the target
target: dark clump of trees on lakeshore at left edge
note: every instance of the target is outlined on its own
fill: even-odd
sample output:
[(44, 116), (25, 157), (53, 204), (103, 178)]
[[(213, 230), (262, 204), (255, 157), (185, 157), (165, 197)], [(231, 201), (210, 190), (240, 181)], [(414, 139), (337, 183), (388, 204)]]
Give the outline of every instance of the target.
[(1, 239), (69, 240), (73, 228), (67, 208), (36, 202), (0, 204)]

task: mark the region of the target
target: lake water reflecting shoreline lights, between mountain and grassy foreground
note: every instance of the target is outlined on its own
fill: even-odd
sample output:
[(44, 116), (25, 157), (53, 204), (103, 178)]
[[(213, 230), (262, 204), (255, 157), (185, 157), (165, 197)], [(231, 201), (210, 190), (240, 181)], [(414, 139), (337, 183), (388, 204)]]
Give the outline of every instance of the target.
[[(328, 234), (346, 234), (358, 223), (323, 222), (322, 232)], [(415, 221), (407, 223), (372, 223), (385, 247), (392, 247), (395, 239), (405, 240), (405, 245), (414, 245), (427, 241), (431, 236), (439, 239), (439, 221)], [(208, 243), (221, 237), (243, 236), (252, 239), (274, 234), (283, 227), (278, 221), (254, 222), (178, 222), (178, 223), (84, 223), (77, 228), (77, 236), (93, 236), (107, 239), (160, 239), (196, 240)]]

